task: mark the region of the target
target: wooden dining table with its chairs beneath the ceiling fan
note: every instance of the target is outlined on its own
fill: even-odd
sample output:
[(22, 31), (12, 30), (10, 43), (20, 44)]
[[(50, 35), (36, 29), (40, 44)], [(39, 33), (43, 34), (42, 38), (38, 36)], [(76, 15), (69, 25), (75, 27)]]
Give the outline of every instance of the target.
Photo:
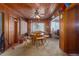
[(39, 45), (44, 45), (44, 43), (47, 40), (47, 37), (49, 37), (48, 35), (45, 34), (39, 34), (39, 33), (32, 33), (31, 35), (31, 39), (32, 39), (32, 43), (33, 45), (37, 45), (36, 43), (40, 43)]

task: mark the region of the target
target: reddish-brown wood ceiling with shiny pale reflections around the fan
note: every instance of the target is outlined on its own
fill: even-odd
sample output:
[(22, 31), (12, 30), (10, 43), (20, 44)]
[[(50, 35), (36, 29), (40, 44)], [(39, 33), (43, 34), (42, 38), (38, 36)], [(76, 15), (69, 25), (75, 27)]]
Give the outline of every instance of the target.
[(7, 3), (1, 5), (12, 9), (13, 12), (16, 11), (22, 15), (22, 17), (28, 19), (34, 19), (34, 13), (37, 8), (41, 19), (45, 19), (48, 18), (57, 7), (55, 3)]

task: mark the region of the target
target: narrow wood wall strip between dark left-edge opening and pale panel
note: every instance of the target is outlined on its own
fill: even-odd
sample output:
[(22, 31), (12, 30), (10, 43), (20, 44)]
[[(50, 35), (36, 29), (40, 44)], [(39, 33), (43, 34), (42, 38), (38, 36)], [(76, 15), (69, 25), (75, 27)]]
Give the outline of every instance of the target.
[(9, 47), (9, 17), (7, 13), (4, 13), (4, 37), (5, 37), (5, 49)]

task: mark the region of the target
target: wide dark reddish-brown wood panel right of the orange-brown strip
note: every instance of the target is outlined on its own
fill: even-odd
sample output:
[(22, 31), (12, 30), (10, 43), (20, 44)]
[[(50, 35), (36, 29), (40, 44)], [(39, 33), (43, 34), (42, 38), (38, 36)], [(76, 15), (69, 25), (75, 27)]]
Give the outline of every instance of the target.
[(67, 12), (67, 43), (68, 43), (68, 52), (69, 53), (75, 53), (76, 52), (76, 37), (75, 37), (75, 14), (76, 14), (75, 7), (68, 10)]

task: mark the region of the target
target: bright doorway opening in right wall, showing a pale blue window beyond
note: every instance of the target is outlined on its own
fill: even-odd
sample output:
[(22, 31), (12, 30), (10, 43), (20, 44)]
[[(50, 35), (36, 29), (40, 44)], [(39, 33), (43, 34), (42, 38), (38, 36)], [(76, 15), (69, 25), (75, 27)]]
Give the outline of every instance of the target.
[(59, 39), (59, 16), (51, 20), (52, 38)]

